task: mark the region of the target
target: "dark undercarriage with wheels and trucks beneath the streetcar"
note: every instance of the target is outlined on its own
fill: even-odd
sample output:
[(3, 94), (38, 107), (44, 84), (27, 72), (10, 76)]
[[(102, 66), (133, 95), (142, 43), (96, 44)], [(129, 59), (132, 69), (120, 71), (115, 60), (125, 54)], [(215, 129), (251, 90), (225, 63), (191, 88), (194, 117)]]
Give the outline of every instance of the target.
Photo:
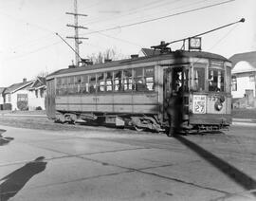
[[(96, 123), (98, 125), (112, 125), (119, 128), (134, 128), (138, 132), (148, 130), (159, 133), (169, 130), (168, 120), (161, 121), (158, 119), (157, 115), (145, 114), (105, 114), (58, 111), (56, 113), (55, 122)], [(177, 133), (187, 135), (223, 130), (229, 130), (229, 124), (190, 124), (189, 120), (184, 120)]]

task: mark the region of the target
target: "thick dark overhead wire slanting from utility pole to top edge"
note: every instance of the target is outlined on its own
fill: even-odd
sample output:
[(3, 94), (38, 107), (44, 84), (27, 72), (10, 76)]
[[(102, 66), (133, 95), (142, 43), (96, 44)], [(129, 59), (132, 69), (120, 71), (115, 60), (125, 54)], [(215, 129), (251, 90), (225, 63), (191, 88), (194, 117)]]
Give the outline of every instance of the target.
[(165, 15), (165, 16), (162, 16), (162, 17), (157, 17), (157, 18), (153, 18), (153, 19), (150, 19), (150, 20), (144, 20), (144, 21), (140, 21), (140, 22), (137, 22), (137, 23), (131, 23), (131, 24), (122, 25), (122, 26), (118, 26), (118, 27), (104, 28), (104, 29), (101, 29), (101, 30), (92, 31), (92, 32), (82, 34), (82, 35), (89, 35), (89, 34), (93, 34), (93, 33), (99, 33), (99, 32), (114, 30), (114, 29), (118, 29), (118, 28), (123, 28), (123, 27), (133, 27), (133, 26), (137, 26), (137, 25), (141, 25), (141, 24), (145, 24), (145, 23), (149, 23), (149, 22), (154, 22), (154, 21), (157, 21), (157, 20), (162, 20), (162, 19), (174, 17), (174, 16), (177, 16), (177, 15), (185, 14), (185, 13), (190, 13), (190, 12), (193, 12), (193, 11), (198, 11), (200, 9), (209, 9), (209, 8), (212, 8), (212, 7), (216, 7), (216, 6), (220, 6), (220, 5), (223, 5), (223, 4), (230, 3), (232, 1), (235, 1), (235, 0), (229, 0), (229, 1), (221, 2), (221, 3), (217, 3), (217, 4), (211, 4), (209, 6), (200, 7), (200, 8), (197, 8), (197, 9), (189, 9), (189, 10), (185, 10), (185, 11), (181, 11), (181, 12), (176, 12), (174, 14), (169, 14), (169, 15)]

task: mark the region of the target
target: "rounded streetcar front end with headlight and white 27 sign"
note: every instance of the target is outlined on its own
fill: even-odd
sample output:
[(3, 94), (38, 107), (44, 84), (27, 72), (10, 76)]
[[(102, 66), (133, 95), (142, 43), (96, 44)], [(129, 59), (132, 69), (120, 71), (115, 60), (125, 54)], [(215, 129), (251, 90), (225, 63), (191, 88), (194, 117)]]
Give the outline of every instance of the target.
[(192, 64), (189, 123), (198, 130), (221, 130), (231, 124), (229, 61)]

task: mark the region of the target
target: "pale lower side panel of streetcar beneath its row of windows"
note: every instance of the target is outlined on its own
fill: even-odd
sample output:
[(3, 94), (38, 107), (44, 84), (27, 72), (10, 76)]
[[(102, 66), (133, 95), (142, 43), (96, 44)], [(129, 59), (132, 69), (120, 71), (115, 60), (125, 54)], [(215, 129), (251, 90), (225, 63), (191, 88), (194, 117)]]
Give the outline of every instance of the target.
[(56, 110), (64, 112), (100, 112), (157, 114), (157, 93), (108, 93), (57, 96)]

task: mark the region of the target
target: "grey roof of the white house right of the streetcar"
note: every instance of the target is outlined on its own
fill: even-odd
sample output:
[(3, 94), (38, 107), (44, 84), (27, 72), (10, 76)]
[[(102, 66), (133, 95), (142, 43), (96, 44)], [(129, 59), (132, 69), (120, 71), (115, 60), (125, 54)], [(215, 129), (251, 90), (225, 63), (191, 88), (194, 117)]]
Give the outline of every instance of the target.
[(232, 62), (233, 66), (241, 61), (247, 62), (252, 66), (256, 66), (256, 51), (234, 54), (229, 58), (229, 60)]

